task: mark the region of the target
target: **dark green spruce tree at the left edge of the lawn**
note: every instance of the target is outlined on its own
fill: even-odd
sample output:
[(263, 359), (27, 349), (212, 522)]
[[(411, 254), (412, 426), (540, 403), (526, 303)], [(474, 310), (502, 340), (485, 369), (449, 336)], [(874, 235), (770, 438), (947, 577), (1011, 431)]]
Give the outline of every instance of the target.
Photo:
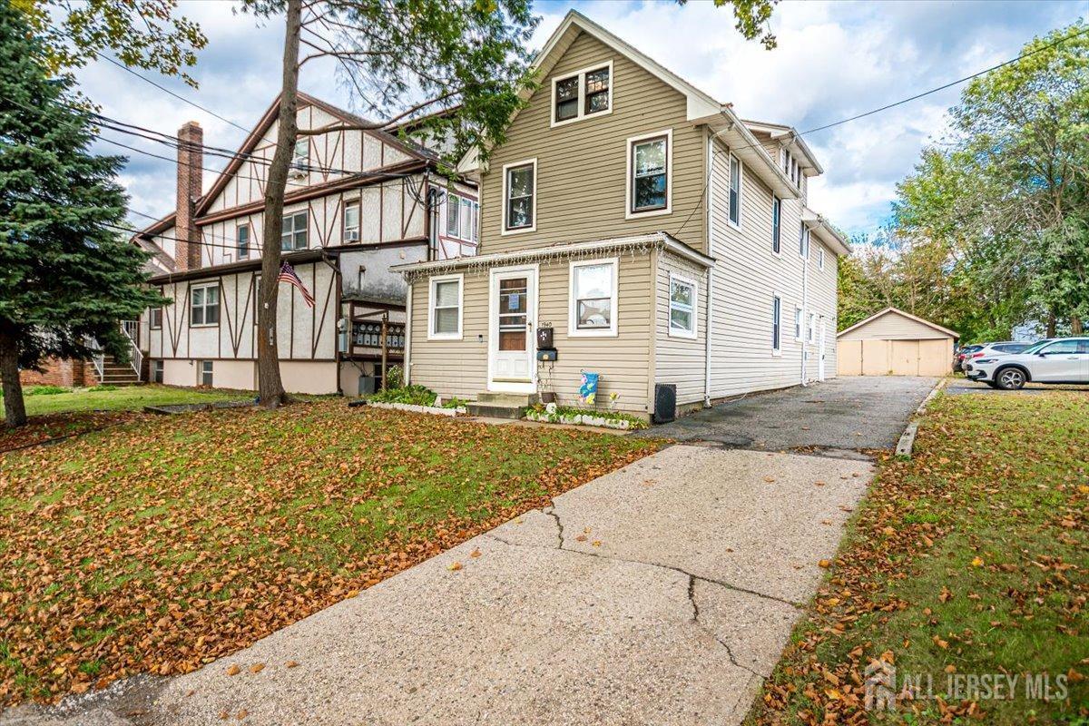
[(0, 2), (0, 379), (8, 426), (26, 423), (19, 369), (86, 360), (88, 339), (122, 360), (119, 321), (162, 297), (143, 286), (147, 255), (118, 236), (120, 157), (88, 152), (87, 114), (70, 75), (49, 77), (46, 48)]

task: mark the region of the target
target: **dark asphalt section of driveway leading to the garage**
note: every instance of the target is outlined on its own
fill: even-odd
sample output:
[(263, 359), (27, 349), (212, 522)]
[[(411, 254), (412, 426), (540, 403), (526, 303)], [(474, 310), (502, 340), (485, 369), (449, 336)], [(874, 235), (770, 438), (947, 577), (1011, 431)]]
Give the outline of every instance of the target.
[(937, 382), (908, 376), (833, 378), (719, 404), (639, 435), (758, 451), (891, 448)]

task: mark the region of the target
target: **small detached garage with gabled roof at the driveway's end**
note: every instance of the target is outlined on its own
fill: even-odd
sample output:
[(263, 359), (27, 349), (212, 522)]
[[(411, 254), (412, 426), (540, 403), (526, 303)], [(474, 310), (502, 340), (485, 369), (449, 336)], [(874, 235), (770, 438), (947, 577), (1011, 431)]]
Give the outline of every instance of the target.
[(945, 376), (959, 334), (885, 308), (836, 335), (840, 376)]

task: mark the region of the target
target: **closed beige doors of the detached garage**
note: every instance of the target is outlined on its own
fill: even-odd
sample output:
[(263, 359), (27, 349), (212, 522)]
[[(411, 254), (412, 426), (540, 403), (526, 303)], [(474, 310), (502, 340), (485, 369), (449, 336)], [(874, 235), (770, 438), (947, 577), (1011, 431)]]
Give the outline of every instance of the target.
[(840, 376), (944, 376), (953, 349), (949, 339), (840, 341)]

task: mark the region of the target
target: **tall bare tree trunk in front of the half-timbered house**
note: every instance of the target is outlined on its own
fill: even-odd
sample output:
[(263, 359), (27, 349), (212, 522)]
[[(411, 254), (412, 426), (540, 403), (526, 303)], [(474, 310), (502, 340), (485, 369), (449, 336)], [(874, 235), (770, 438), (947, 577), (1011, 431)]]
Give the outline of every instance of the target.
[(276, 153), (265, 186), (265, 230), (261, 235), (261, 288), (257, 316), (257, 387), (260, 403), (276, 408), (286, 401), (280, 380), (280, 352), (277, 345), (277, 299), (280, 283), (280, 232), (283, 225), (283, 193), (298, 132), (295, 110), (298, 104), (298, 36), (302, 28), (302, 0), (287, 0), (287, 20), (283, 44), (283, 87)]

